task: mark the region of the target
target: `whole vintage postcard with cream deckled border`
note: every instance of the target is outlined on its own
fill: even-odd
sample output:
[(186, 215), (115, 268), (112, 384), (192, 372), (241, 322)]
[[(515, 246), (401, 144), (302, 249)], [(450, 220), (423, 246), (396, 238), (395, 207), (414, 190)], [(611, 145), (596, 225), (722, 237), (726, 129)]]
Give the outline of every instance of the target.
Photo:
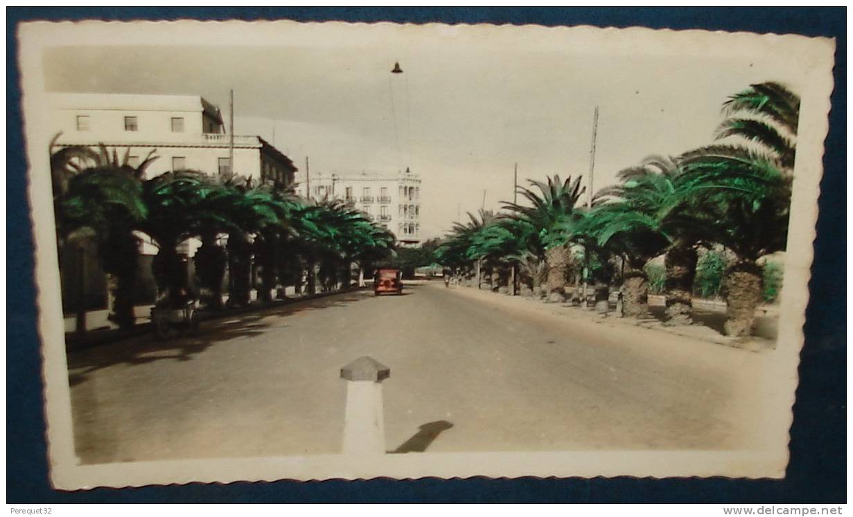
[(55, 487), (785, 475), (833, 40), (18, 37)]

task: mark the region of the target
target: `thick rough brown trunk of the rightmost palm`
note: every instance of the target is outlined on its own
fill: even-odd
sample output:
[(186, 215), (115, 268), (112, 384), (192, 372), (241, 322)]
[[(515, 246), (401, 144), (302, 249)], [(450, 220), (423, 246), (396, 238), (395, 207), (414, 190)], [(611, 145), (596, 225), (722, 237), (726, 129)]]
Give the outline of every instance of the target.
[(751, 335), (755, 310), (761, 302), (761, 279), (761, 267), (755, 261), (739, 261), (726, 271), (723, 280), (728, 317), (723, 327), (726, 336)]

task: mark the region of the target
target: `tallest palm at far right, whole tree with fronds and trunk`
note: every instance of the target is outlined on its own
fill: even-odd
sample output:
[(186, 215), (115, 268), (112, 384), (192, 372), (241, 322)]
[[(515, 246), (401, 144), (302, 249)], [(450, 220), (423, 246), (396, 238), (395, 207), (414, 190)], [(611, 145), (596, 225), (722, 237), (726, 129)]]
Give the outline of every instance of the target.
[(698, 193), (694, 203), (713, 221), (706, 229), (738, 259), (724, 280), (725, 333), (749, 336), (761, 301), (757, 260), (785, 250), (799, 100), (778, 83), (753, 84), (733, 95), (723, 112), (728, 118), (718, 139), (746, 140), (746, 146), (720, 143), (680, 159), (685, 181)]

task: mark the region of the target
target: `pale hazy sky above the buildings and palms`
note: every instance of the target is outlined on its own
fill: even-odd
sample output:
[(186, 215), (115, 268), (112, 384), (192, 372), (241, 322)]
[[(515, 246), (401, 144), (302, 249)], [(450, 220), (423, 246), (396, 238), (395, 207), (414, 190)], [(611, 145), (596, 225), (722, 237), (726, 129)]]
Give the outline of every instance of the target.
[[(594, 191), (648, 155), (711, 143), (728, 95), (793, 80), (785, 56), (603, 51), (559, 44), (541, 27), (516, 28), (500, 44), (464, 28), (422, 37), (316, 27), (300, 30), (317, 37), (282, 44), (51, 47), (45, 85), (201, 95), (226, 116), (234, 89), (235, 134), (262, 136), (298, 166), (310, 157), (312, 175), (420, 173), (421, 233), (431, 238), (478, 210), (484, 191), (486, 209), (511, 199), (515, 164), (522, 185), (554, 174), (587, 181), (595, 106)], [(391, 73), (395, 61), (403, 74)]]

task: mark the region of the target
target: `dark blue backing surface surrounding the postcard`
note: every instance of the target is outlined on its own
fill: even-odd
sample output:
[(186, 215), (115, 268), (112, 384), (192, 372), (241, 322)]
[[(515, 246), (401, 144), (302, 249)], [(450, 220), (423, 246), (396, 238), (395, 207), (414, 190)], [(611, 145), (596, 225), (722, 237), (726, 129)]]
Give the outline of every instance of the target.
[[(147, 486), (54, 491), (44, 439), (32, 229), (20, 113), (15, 26), (26, 20), (347, 20), (648, 26), (797, 33), (837, 38), (835, 91), (821, 181), (806, 341), (785, 480), (595, 478), (367, 480)], [(7, 60), (7, 503), (843, 503), (846, 502), (845, 8), (8, 8)]]

